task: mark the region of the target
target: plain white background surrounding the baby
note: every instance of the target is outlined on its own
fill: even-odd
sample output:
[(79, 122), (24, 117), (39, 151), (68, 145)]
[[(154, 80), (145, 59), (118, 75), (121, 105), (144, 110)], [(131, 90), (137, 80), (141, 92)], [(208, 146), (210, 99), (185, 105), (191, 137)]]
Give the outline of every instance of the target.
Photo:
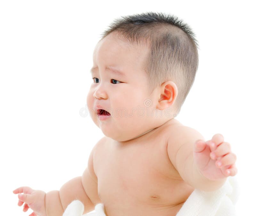
[[(254, 212), (255, 11), (252, 1), (1, 1), (1, 215), (22, 212), (20, 186), (59, 190), (82, 175), (103, 133), (81, 117), (100, 34), (116, 18), (164, 12), (188, 23), (199, 68), (176, 117), (237, 155), (238, 215)], [(170, 195), (172, 196), (172, 195)]]

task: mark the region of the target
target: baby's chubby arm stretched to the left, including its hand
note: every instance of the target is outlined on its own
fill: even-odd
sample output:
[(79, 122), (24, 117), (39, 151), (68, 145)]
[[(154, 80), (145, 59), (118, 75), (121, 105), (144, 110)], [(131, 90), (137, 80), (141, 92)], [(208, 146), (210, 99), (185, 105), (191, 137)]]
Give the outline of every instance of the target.
[(68, 204), (76, 199), (84, 204), (83, 214), (92, 211), (95, 205), (100, 203), (97, 177), (93, 169), (93, 154), (100, 141), (102, 139), (93, 147), (88, 167), (83, 175), (65, 183), (60, 191), (52, 190), (45, 194), (43, 191), (33, 190), (29, 187), (20, 187), (14, 190), (14, 194), (24, 193), (22, 196), (18, 196), (18, 205), (21, 206), (25, 203), (23, 211), (26, 212), (28, 208), (31, 208), (34, 211), (31, 215), (62, 216)]

